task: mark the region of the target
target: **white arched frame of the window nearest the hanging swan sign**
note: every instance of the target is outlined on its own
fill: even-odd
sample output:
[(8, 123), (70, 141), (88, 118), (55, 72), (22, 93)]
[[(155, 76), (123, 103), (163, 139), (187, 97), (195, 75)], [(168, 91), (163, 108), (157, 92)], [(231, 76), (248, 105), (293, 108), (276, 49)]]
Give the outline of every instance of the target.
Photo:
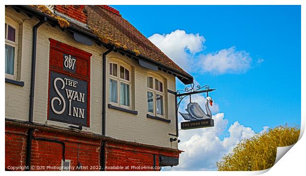
[[(148, 87), (148, 77), (152, 77), (153, 78), (153, 89)], [(162, 91), (160, 92), (158, 90), (155, 90), (155, 79), (158, 80), (159, 82), (162, 83)], [(153, 93), (153, 112), (148, 111), (148, 92), (152, 92)], [(165, 84), (164, 81), (161, 77), (159, 76), (154, 76), (152, 74), (147, 75), (147, 112), (150, 115), (156, 116), (156, 117), (161, 117), (161, 118), (165, 118)], [(162, 108), (163, 108), (163, 114), (157, 114), (156, 113), (156, 94), (159, 94), (162, 96)]]

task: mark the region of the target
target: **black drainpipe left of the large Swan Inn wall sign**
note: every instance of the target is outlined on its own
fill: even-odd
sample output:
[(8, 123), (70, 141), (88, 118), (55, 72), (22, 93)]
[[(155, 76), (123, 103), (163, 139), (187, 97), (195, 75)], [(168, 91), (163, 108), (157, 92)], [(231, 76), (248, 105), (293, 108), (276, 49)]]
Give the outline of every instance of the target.
[[(30, 88), (30, 108), (29, 108), (29, 123), (33, 123), (33, 108), (34, 108), (34, 88), (35, 88), (35, 70), (36, 70), (36, 46), (37, 46), (37, 30), (47, 18), (44, 17), (38, 24), (33, 27), (33, 41), (32, 41), (32, 67), (31, 67), (31, 88)], [(30, 171), (31, 165), (31, 149), (32, 149), (33, 129), (29, 129), (27, 142), (27, 156), (26, 156), (26, 171)]]

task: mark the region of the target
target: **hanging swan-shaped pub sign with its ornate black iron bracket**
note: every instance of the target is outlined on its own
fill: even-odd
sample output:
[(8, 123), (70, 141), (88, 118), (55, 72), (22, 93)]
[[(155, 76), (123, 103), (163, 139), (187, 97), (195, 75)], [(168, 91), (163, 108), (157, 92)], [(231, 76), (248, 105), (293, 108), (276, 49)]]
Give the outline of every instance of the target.
[[(200, 90), (202, 88), (205, 88), (205, 90)], [(185, 88), (184, 92), (186, 93), (181, 94), (180, 91), (177, 91), (176, 97), (180, 99), (177, 105), (177, 111), (182, 100), (186, 96), (190, 97), (190, 103), (187, 105), (187, 109), (185, 109), (188, 113), (179, 112), (185, 120), (188, 120), (187, 122), (181, 122), (182, 130), (214, 126), (214, 120), (212, 119), (212, 113), (209, 108), (209, 106), (213, 106), (213, 100), (211, 97), (208, 96), (208, 92), (211, 92), (213, 90), (215, 89), (209, 89), (209, 86), (207, 85), (203, 87), (197, 86), (196, 88), (194, 88), (194, 84), (191, 83), (190, 89)], [(206, 112), (202, 109), (202, 107), (198, 103), (191, 102), (191, 95), (204, 93), (204, 92), (206, 92), (207, 95), (205, 101)]]

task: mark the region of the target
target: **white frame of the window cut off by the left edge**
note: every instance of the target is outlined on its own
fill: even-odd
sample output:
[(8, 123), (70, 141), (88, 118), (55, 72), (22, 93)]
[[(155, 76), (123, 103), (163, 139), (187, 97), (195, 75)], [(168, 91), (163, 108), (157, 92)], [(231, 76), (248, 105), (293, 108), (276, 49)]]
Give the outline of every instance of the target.
[(8, 32), (7, 28), (8, 25), (15, 29), (15, 42), (6, 39), (7, 34), (5, 34), (5, 45), (9, 45), (12, 47), (15, 47), (15, 53), (14, 53), (14, 74), (8, 74), (5, 73), (5, 78), (16, 80), (17, 79), (17, 55), (18, 55), (18, 23), (11, 20), (8, 17), (5, 17), (5, 23), (6, 23), (6, 32)]

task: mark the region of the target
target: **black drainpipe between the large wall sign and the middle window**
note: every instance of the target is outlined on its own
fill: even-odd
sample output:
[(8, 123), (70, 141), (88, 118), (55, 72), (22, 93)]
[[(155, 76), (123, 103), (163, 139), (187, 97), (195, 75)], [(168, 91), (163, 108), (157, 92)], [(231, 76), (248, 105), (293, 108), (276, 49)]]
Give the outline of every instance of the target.
[(105, 136), (105, 115), (106, 115), (106, 55), (108, 55), (110, 52), (114, 50), (114, 47), (107, 50), (102, 55), (102, 136)]

